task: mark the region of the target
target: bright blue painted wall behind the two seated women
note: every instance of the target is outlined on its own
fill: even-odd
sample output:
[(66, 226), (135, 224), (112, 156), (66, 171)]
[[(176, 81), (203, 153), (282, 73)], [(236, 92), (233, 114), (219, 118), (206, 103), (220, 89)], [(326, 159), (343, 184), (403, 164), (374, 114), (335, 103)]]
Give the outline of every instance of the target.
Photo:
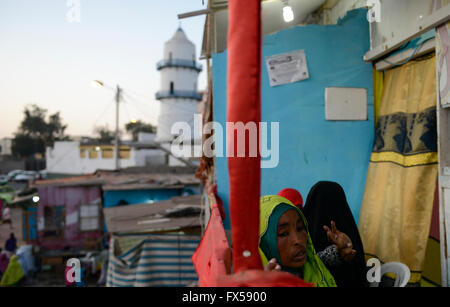
[[(291, 187), (306, 200), (316, 182), (335, 181), (344, 188), (358, 221), (374, 139), (372, 66), (363, 61), (370, 48), (366, 13), (364, 9), (354, 10), (338, 25), (298, 26), (264, 36), (262, 121), (280, 123), (280, 161), (276, 168), (262, 169), (262, 195)], [(270, 87), (264, 58), (299, 49), (305, 50), (310, 78)], [(223, 127), (226, 70), (227, 53), (214, 54), (214, 120)], [(369, 119), (326, 121), (326, 87), (366, 88)], [(227, 160), (218, 157), (216, 162), (218, 194), (229, 216)], [(229, 218), (224, 225), (229, 229)]]

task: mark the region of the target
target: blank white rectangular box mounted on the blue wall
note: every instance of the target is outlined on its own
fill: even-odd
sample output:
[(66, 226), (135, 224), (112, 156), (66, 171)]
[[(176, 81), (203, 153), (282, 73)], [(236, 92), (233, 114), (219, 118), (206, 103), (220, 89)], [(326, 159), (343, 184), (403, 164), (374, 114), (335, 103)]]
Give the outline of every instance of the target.
[(367, 120), (367, 89), (327, 87), (326, 120)]

